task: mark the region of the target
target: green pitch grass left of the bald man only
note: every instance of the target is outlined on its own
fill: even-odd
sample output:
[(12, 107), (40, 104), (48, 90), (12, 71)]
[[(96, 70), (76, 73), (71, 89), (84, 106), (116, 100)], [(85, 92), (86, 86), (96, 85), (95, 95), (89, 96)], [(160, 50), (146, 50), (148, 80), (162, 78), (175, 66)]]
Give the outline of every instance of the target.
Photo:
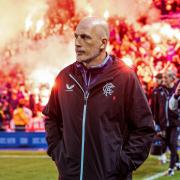
[[(6, 158), (3, 157), (5, 155), (23, 155), (30, 158)], [(0, 151), (0, 180), (57, 180), (57, 172), (45, 152)]]

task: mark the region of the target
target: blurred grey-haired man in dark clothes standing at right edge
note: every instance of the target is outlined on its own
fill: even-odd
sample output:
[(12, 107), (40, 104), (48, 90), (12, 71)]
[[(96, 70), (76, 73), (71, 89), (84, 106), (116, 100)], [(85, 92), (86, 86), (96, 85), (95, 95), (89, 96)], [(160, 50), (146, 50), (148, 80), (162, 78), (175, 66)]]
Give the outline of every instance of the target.
[[(174, 175), (174, 168), (179, 163), (179, 156), (177, 153), (177, 138), (178, 127), (180, 121), (178, 121), (178, 114), (169, 108), (169, 99), (175, 92), (176, 74), (173, 70), (168, 69), (163, 74), (164, 87), (166, 91), (166, 103), (165, 103), (165, 116), (166, 116), (166, 143), (170, 150), (170, 164), (168, 169), (168, 175)], [(178, 169), (180, 167), (177, 167)]]

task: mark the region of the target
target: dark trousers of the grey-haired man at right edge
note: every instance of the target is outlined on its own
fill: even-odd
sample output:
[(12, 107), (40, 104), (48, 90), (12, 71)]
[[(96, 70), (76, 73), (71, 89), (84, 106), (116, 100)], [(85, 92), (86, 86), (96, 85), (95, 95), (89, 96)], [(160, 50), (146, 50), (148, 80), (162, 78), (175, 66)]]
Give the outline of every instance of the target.
[(174, 168), (175, 163), (179, 161), (177, 153), (177, 127), (167, 127), (166, 129), (166, 143), (170, 150), (170, 164), (169, 168)]

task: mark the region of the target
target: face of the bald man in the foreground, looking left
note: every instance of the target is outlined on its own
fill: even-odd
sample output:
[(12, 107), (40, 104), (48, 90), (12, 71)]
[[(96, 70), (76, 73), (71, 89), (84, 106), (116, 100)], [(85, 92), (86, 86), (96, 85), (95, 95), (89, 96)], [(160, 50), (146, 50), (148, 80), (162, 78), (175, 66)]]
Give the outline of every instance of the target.
[(75, 51), (79, 62), (95, 60), (101, 52), (101, 39), (96, 28), (80, 24), (75, 31)]

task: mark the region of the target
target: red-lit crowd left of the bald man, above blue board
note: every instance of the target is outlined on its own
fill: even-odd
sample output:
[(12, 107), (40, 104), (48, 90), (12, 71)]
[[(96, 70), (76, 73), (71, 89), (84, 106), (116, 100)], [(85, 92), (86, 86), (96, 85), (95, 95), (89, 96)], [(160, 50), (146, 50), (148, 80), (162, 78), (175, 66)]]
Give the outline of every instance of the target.
[(44, 131), (41, 111), (20, 66), (0, 72), (0, 131)]

